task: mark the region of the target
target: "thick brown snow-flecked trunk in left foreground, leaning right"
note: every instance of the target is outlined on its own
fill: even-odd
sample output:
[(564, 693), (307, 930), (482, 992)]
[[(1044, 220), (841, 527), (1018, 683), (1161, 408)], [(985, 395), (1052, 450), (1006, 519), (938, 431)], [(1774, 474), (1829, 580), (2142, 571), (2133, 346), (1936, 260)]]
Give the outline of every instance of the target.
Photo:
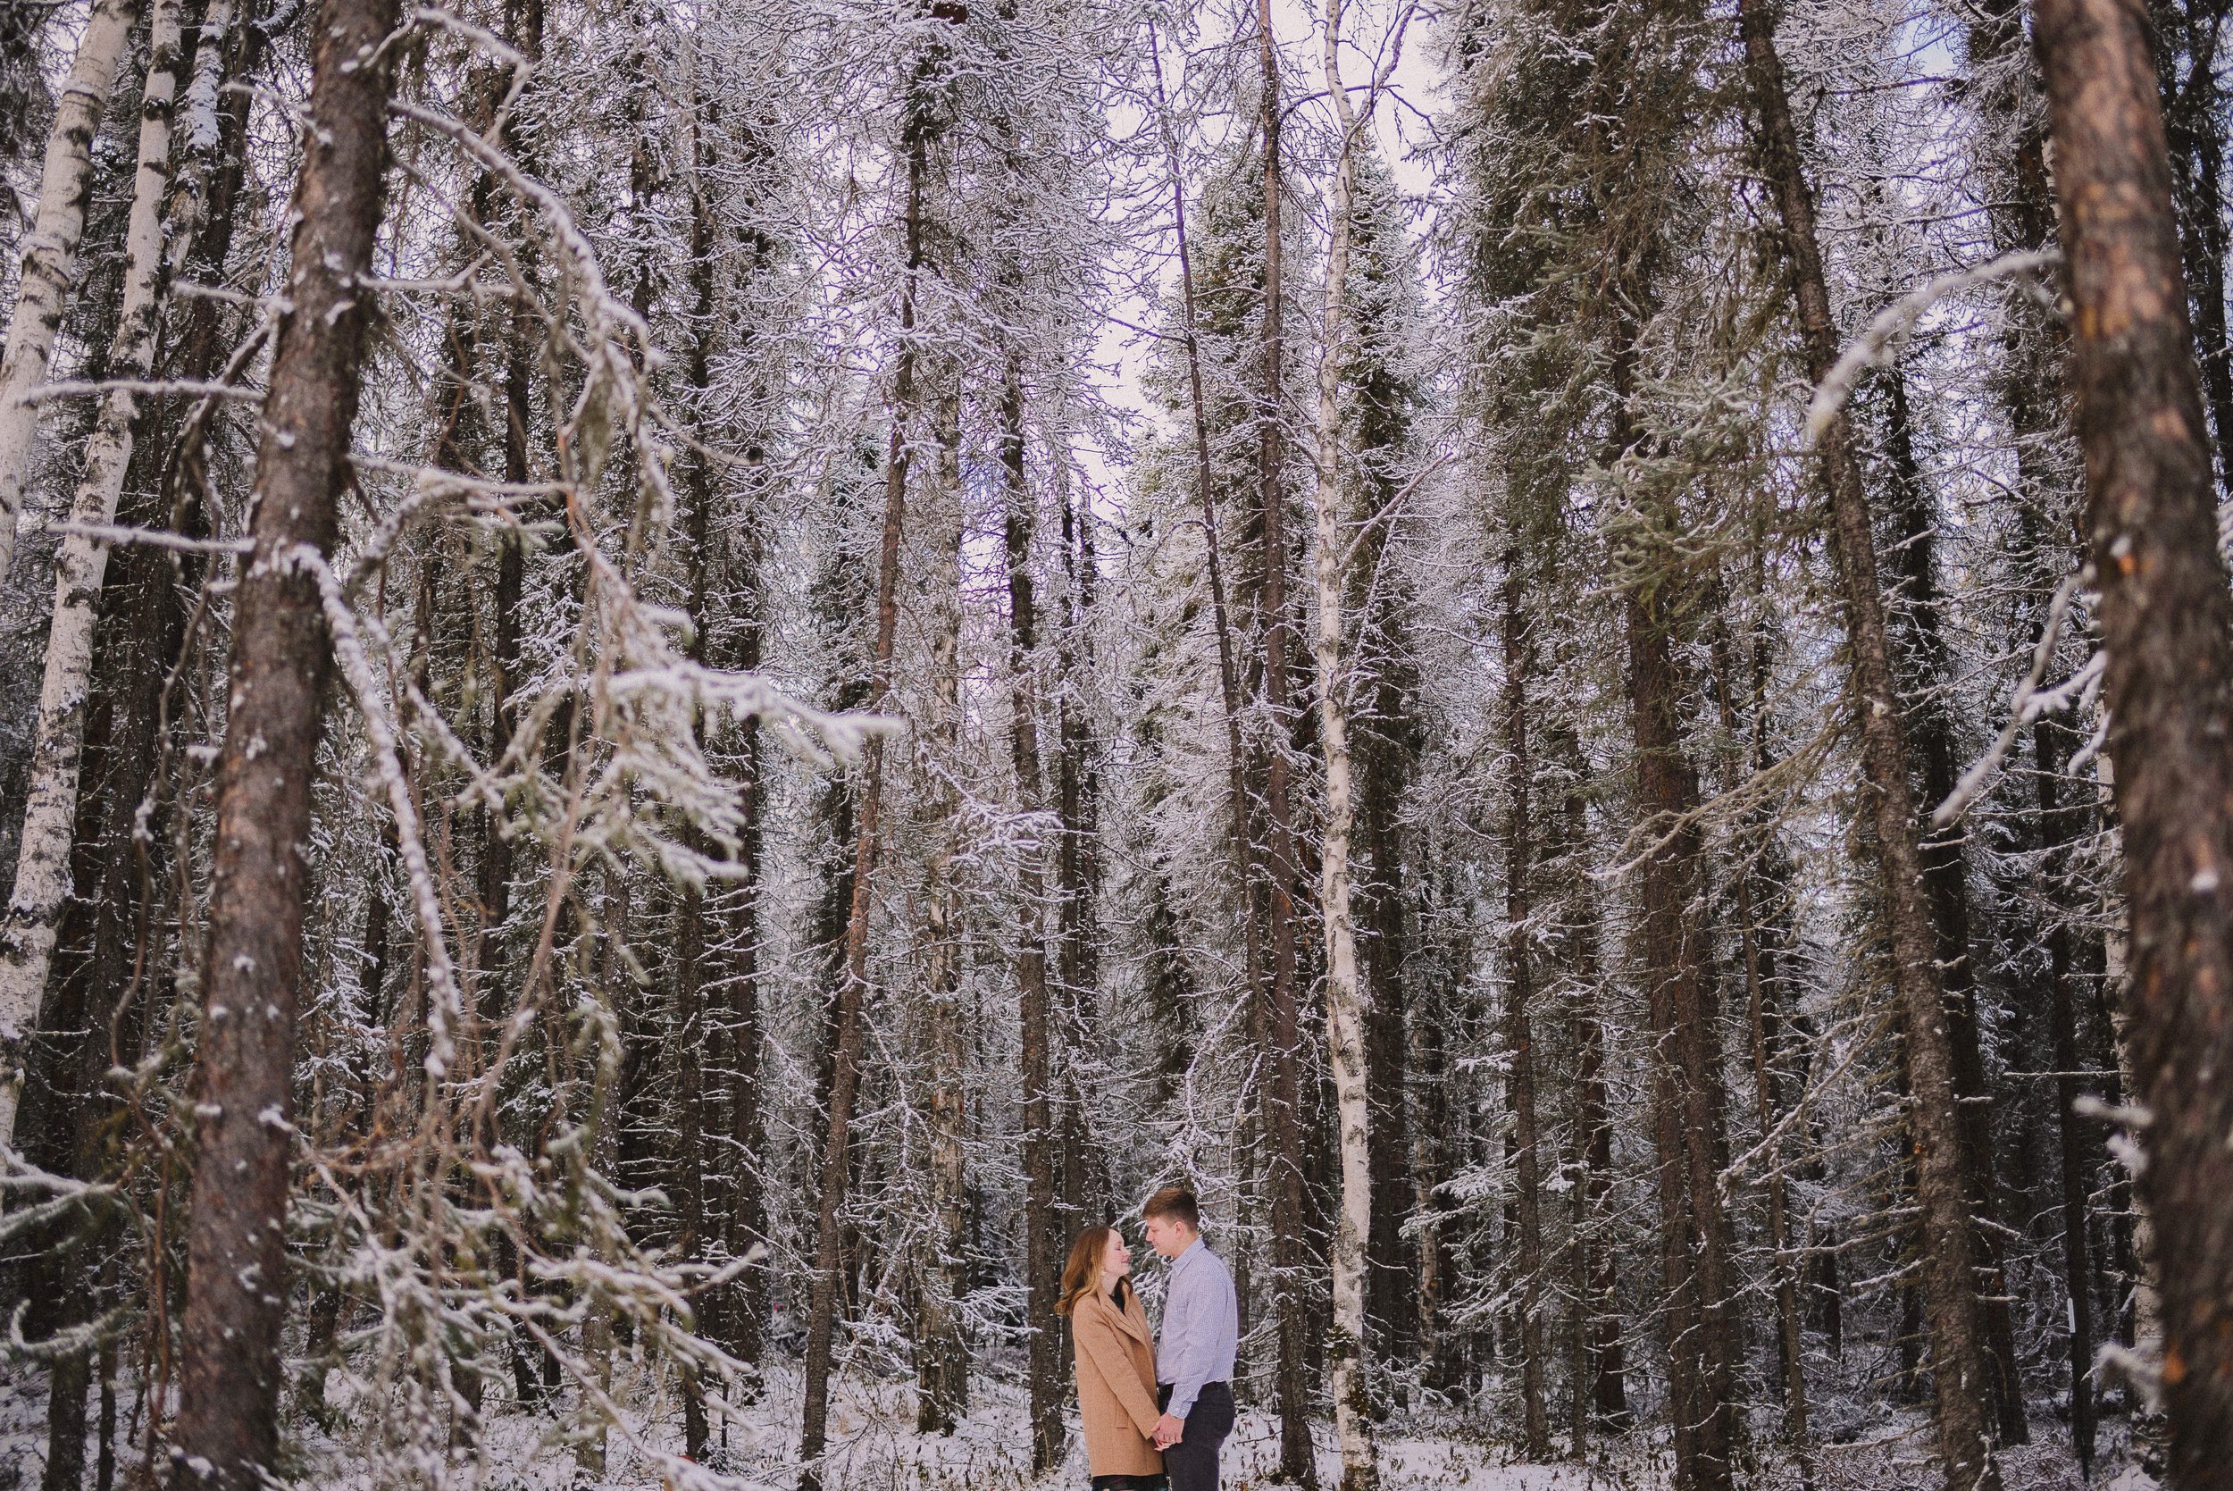
[(357, 413), (373, 237), (382, 217), (395, 0), (328, 0), (295, 190), (288, 299), (263, 442), (252, 551), (232, 627), (217, 777), (194, 1183), (176, 1444), (203, 1484), (277, 1475), (279, 1326), (295, 1009), (328, 643), (301, 551), (333, 551)]

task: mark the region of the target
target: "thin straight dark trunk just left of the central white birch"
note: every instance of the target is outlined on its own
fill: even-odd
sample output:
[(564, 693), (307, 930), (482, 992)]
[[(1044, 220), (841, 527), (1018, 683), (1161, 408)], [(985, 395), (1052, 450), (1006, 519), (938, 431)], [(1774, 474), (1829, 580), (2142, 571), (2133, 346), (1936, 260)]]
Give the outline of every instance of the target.
[(1273, 31), (1271, 0), (1257, 0), (1257, 56), (1262, 62), (1259, 129), (1264, 134), (1264, 388), (1257, 408), (1257, 502), (1259, 502), (1259, 603), (1264, 609), (1264, 703), (1271, 737), (1264, 743), (1264, 819), (1268, 844), (1264, 855), (1271, 929), (1271, 998), (1264, 1011), (1268, 1080), (1264, 1083), (1264, 1132), (1271, 1138), (1271, 1194), (1280, 1223), (1271, 1232), (1273, 1299), (1277, 1304), (1277, 1397), (1280, 1397), (1280, 1475), (1295, 1484), (1317, 1487), (1317, 1464), (1311, 1455), (1311, 1402), (1304, 1379), (1304, 1185), (1302, 1185), (1302, 1114), (1297, 1076), (1297, 1000), (1295, 1000), (1295, 821), (1288, 804), (1286, 734), (1288, 719), (1288, 603), (1286, 603), (1286, 395), (1282, 393), (1282, 205), (1286, 187), (1280, 181), (1280, 42)]

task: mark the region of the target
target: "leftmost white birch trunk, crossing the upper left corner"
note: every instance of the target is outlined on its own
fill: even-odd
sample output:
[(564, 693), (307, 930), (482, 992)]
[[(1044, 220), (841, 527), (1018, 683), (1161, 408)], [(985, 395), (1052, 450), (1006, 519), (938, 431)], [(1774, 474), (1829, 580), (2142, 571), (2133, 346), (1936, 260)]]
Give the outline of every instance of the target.
[[(16, 562), (16, 516), (31, 473), (38, 406), (25, 402), (47, 377), (54, 333), (63, 326), (69, 286), (78, 277), (78, 239), (94, 179), (94, 132), (109, 107), (116, 69), (138, 20), (138, 0), (94, 0), (85, 20), (69, 83), (54, 107), (47, 163), (38, 176), (38, 210), (22, 246), (22, 277), (9, 315), (7, 357), (0, 359), (0, 580)], [(0, 1027), (0, 1036), (9, 1031)], [(13, 1056), (9, 1056), (13, 1065)], [(11, 1089), (13, 1091), (13, 1089)], [(4, 1098), (13, 1112), (13, 1098)]]

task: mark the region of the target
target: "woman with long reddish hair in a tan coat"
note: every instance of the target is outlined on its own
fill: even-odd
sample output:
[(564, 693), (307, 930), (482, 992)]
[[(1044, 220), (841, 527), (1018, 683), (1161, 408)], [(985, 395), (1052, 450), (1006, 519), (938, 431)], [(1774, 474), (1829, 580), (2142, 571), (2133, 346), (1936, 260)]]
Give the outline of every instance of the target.
[(1116, 1228), (1085, 1228), (1063, 1266), (1063, 1299), (1076, 1350), (1085, 1473), (1094, 1491), (1163, 1491), (1163, 1451), (1150, 1444), (1154, 1337), (1132, 1288), (1132, 1250)]

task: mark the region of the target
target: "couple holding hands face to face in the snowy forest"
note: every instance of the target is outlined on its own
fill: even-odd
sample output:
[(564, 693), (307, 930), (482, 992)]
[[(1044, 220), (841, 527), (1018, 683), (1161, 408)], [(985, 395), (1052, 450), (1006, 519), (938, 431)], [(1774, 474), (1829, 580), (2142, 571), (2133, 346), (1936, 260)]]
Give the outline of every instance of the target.
[(1170, 1263), (1163, 1339), (1132, 1288), (1116, 1228), (1085, 1228), (1063, 1266), (1076, 1348), (1079, 1417), (1094, 1491), (1217, 1491), (1217, 1446), (1233, 1431), (1239, 1306), (1233, 1274), (1201, 1241), (1201, 1208), (1177, 1185), (1143, 1208), (1148, 1245)]

